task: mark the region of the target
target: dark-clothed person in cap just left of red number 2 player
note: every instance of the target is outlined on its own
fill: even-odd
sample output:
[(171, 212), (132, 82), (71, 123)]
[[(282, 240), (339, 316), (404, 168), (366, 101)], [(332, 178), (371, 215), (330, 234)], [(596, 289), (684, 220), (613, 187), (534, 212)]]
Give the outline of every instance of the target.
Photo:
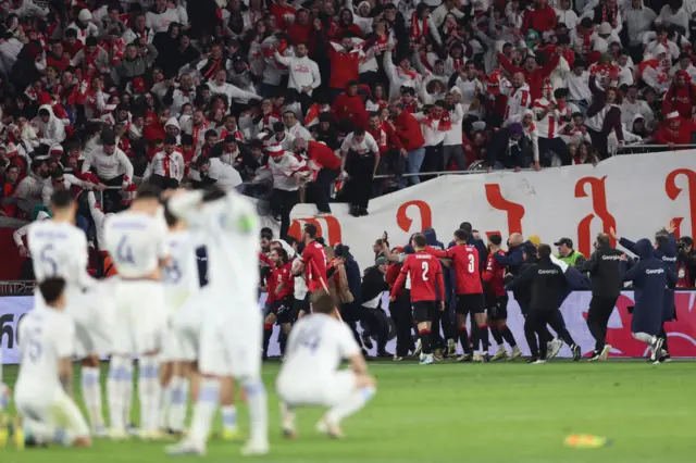
[(389, 337), (389, 322), (387, 314), (382, 308), (382, 295), (389, 289), (385, 275), (387, 273), (388, 261), (386, 258), (377, 258), (374, 266), (365, 268), (362, 277), (362, 317), (360, 324), (368, 328), (362, 334), (363, 343), (371, 346), (370, 338), (377, 341), (377, 356), (391, 356), (386, 351)]

